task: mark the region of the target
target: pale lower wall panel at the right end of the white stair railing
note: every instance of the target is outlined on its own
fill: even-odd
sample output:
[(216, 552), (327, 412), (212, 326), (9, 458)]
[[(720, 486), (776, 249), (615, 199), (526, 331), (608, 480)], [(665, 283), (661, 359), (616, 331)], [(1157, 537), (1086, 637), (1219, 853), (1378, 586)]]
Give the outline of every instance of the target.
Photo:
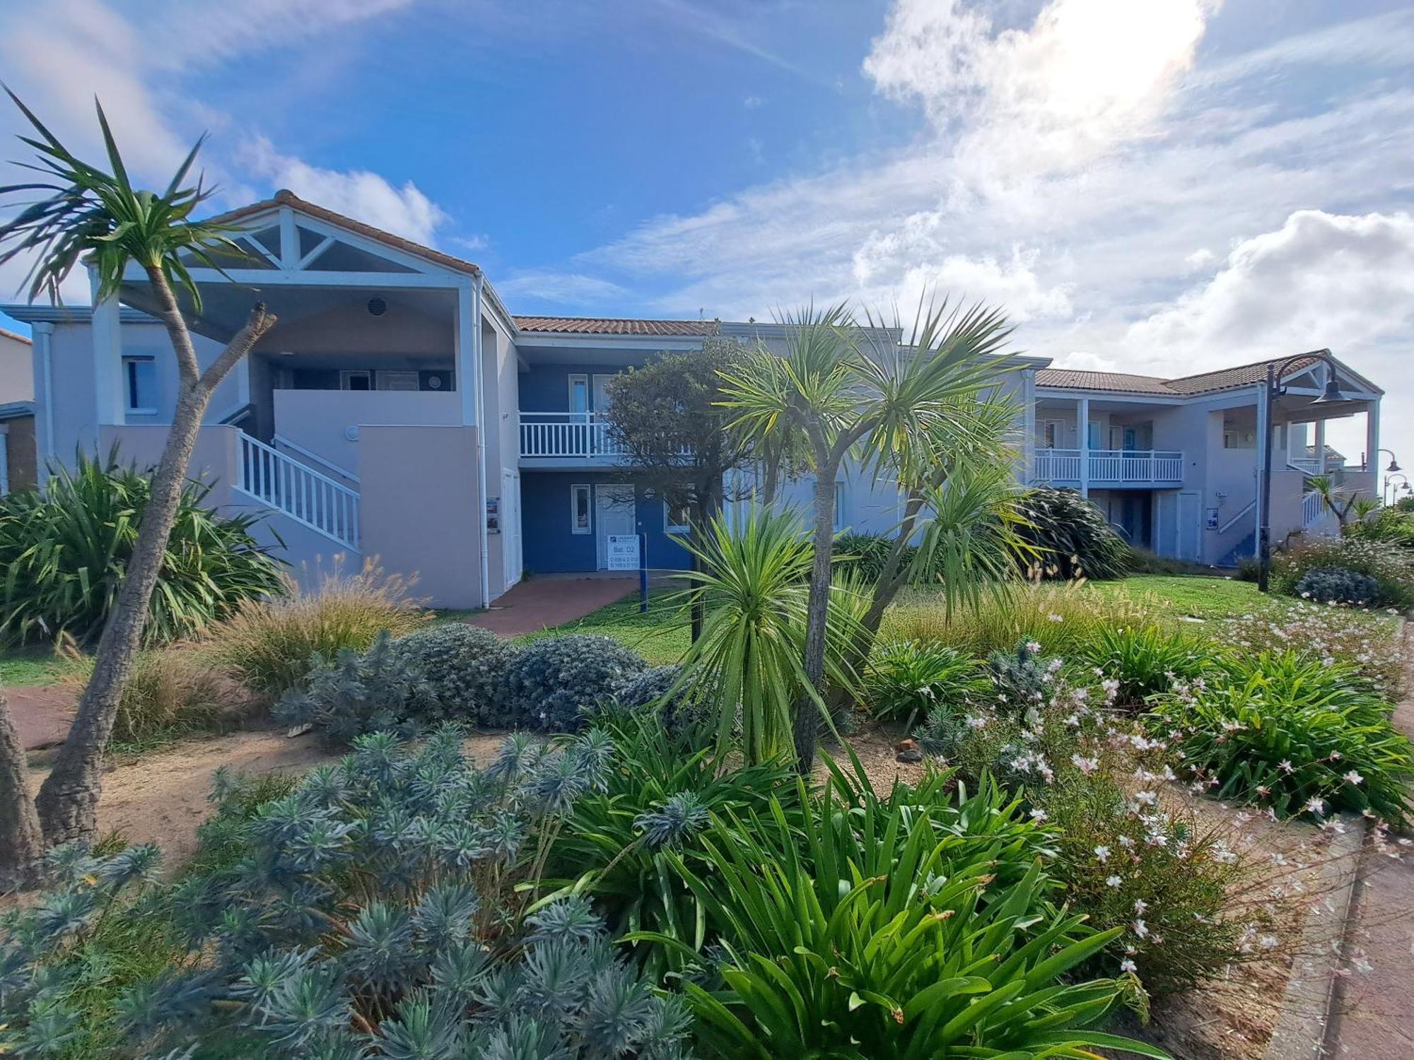
[(475, 427), (359, 431), (363, 555), (417, 575), (433, 606), (481, 605), (485, 506), (475, 459)]

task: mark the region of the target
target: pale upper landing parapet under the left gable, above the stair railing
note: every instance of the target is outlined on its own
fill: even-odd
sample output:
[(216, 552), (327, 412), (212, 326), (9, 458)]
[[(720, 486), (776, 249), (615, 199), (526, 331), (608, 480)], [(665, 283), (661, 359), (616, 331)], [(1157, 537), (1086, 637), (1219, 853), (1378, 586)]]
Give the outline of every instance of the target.
[[(454, 425), (461, 421), (455, 393), (427, 390), (276, 390), (274, 432), (320, 454), (352, 475), (359, 473), (359, 442), (351, 427)], [(298, 459), (298, 455), (296, 454)]]

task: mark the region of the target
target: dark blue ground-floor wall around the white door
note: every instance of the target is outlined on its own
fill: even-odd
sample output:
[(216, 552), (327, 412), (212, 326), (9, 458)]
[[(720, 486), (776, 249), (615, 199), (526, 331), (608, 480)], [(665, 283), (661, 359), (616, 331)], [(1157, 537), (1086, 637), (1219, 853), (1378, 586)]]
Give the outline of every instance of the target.
[[(532, 574), (570, 574), (598, 568), (598, 527), (594, 533), (570, 530), (570, 486), (626, 482), (614, 471), (520, 471), (520, 526), (525, 567)], [(686, 570), (687, 550), (674, 534), (663, 531), (663, 502), (649, 500), (635, 489), (639, 533), (648, 534), (648, 565), (653, 570)]]

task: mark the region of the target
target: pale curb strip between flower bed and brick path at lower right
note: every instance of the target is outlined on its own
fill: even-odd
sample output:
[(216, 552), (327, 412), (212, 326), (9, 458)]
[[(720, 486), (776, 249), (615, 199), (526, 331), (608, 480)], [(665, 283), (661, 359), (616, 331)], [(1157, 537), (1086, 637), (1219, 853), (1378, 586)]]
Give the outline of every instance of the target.
[(1355, 910), (1355, 886), (1365, 859), (1366, 823), (1342, 814), (1345, 831), (1331, 840), (1331, 855), (1321, 866), (1315, 890), (1325, 899), (1307, 916), (1301, 946), (1291, 965), (1277, 1026), (1264, 1060), (1318, 1060), (1326, 1056), (1331, 1011), (1345, 955), (1346, 933)]

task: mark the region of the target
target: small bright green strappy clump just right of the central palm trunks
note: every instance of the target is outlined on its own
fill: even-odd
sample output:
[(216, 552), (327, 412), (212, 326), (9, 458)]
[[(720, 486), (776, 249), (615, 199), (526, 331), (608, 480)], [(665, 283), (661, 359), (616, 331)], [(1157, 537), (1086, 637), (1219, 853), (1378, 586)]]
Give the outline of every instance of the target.
[(909, 718), (937, 705), (959, 711), (987, 695), (977, 660), (943, 644), (892, 640), (875, 647), (864, 673), (864, 702), (875, 718)]

